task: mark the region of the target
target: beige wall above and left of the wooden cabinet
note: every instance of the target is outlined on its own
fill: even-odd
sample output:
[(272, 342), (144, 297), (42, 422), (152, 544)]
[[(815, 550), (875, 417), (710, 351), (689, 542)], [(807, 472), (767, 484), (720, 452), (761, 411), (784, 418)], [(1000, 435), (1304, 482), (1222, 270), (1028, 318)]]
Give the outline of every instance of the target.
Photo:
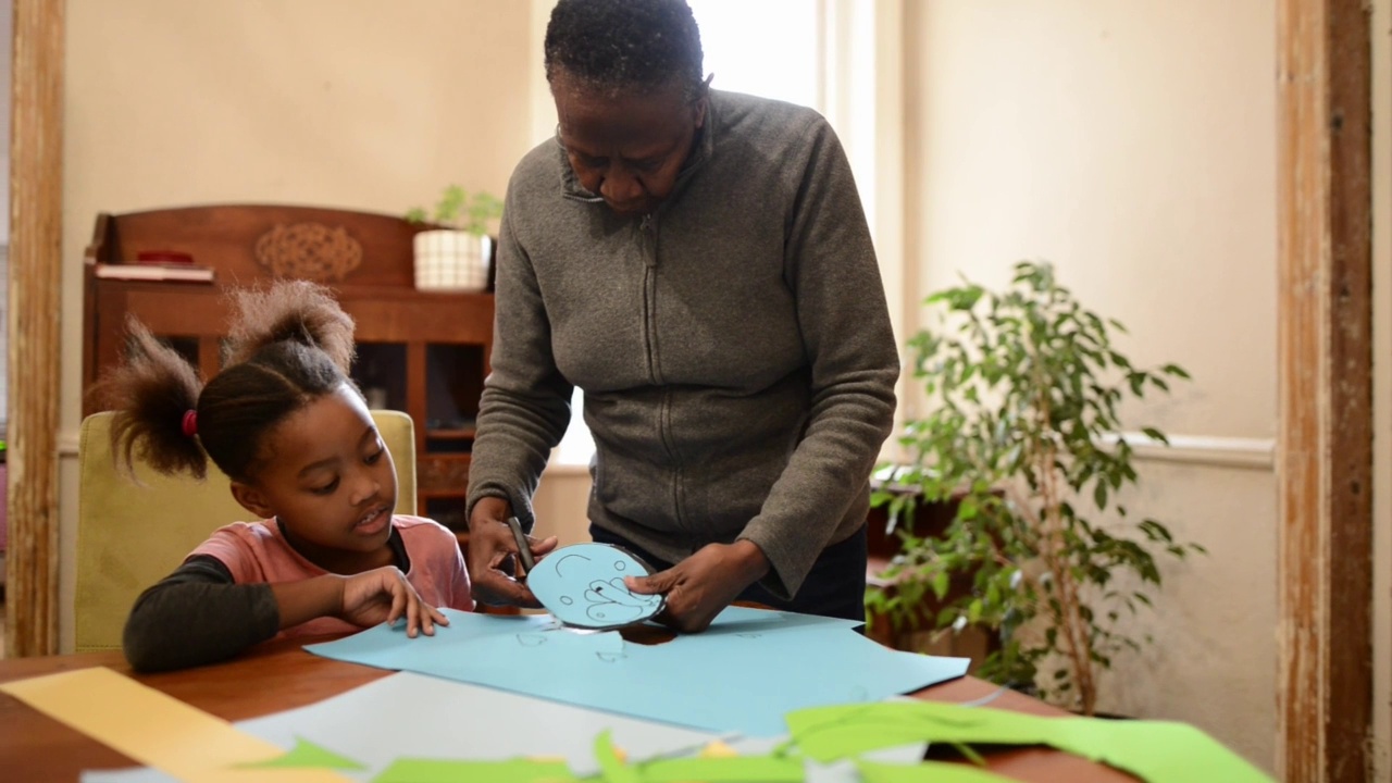
[[(525, 3), (70, 0), (61, 605), (72, 599), (82, 251), (99, 212), (501, 194), (530, 146)], [(71, 649), (71, 617), (63, 645)]]

